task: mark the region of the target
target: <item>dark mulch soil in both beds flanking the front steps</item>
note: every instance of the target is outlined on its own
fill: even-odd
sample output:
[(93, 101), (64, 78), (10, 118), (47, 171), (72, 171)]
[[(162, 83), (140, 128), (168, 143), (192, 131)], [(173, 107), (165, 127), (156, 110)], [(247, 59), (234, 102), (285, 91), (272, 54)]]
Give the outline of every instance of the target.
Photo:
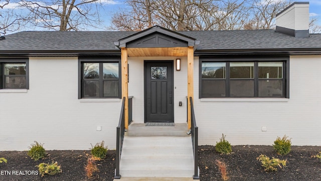
[[(216, 160), (227, 165), (229, 180), (321, 180), (321, 161), (313, 155), (321, 151), (320, 146), (292, 146), (288, 155), (275, 153), (272, 146), (232, 146), (233, 153), (220, 155), (214, 146), (199, 147), (200, 180), (222, 180)], [(47, 151), (46, 158), (34, 161), (26, 151), (2, 151), (8, 163), (0, 163), (0, 180), (113, 180), (115, 170), (115, 151), (109, 150), (104, 160), (97, 161), (99, 172), (88, 178), (84, 171), (86, 154), (90, 151), (52, 150)], [(265, 172), (261, 163), (256, 160), (260, 154), (269, 157), (286, 159), (287, 164), (278, 171)], [(57, 161), (62, 173), (56, 175), (32, 174), (41, 162)], [(9, 172), (11, 174), (9, 175)]]

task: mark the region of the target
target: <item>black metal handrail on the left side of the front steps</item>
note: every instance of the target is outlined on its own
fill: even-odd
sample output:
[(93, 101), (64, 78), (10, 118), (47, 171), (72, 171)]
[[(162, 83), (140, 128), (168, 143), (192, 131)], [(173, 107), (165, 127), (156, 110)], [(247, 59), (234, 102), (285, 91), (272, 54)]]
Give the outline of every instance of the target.
[(117, 126), (117, 138), (116, 138), (116, 169), (114, 179), (120, 179), (121, 175), (119, 174), (119, 163), (121, 157), (122, 143), (125, 136), (125, 97), (122, 99), (121, 111), (119, 117), (119, 123)]

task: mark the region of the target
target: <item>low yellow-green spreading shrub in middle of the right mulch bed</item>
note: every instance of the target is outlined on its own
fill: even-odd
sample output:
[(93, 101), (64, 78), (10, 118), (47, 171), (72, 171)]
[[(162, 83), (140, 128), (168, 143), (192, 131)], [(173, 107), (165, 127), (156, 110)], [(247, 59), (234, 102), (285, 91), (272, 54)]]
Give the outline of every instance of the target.
[(277, 171), (277, 167), (282, 168), (282, 165), (286, 166), (286, 160), (280, 160), (274, 157), (270, 159), (270, 157), (264, 154), (261, 154), (256, 159), (261, 161), (262, 166), (264, 167), (264, 171)]

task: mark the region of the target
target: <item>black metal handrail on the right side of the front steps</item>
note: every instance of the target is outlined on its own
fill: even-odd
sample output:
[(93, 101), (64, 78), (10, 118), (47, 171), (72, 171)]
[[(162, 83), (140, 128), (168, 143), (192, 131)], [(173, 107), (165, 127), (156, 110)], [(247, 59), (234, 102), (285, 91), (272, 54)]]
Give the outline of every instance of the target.
[(199, 167), (198, 167), (198, 160), (199, 160), (199, 154), (198, 154), (198, 127), (196, 125), (196, 119), (195, 119), (195, 113), (194, 113), (194, 106), (193, 106), (193, 99), (190, 97), (191, 102), (191, 132), (192, 132), (192, 144), (193, 144), (193, 152), (194, 152), (194, 175), (193, 179), (200, 179), (199, 175)]

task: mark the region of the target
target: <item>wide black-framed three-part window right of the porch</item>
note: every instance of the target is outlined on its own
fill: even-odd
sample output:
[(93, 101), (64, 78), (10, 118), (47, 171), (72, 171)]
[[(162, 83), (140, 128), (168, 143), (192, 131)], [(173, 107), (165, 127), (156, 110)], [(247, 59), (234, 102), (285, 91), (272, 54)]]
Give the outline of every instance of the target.
[(200, 58), (200, 98), (288, 98), (288, 57)]

